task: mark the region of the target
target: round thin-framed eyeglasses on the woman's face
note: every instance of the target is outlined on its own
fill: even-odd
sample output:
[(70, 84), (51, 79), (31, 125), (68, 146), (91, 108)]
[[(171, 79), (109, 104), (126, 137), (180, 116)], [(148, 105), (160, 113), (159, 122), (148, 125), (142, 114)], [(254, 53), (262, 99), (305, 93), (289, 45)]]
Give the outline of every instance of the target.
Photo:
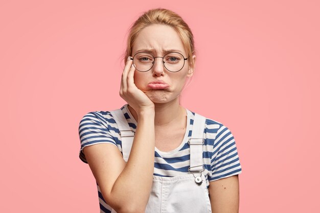
[(155, 58), (162, 58), (163, 65), (172, 73), (179, 72), (184, 67), (185, 60), (188, 59), (177, 52), (167, 53), (164, 57), (154, 57), (150, 53), (139, 52), (132, 58), (130, 57), (130, 59), (133, 60), (133, 66), (140, 72), (149, 71), (154, 65)]

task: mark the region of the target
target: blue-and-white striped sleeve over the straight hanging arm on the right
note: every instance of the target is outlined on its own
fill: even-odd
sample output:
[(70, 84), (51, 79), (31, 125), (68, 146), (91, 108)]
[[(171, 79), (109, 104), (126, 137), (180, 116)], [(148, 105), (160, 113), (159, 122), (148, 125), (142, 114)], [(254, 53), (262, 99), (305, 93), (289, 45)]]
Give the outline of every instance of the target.
[(230, 177), (242, 172), (236, 141), (231, 131), (221, 125), (214, 140), (211, 158), (212, 175), (209, 181)]

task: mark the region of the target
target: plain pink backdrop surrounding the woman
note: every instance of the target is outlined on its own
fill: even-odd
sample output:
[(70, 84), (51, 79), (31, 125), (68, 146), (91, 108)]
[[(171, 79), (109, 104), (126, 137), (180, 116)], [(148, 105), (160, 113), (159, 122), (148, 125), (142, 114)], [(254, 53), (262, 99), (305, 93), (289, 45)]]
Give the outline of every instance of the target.
[(233, 132), (240, 212), (318, 212), (319, 6), (2, 0), (0, 212), (99, 212), (78, 125), (89, 111), (125, 104), (126, 32), (155, 7), (193, 30), (196, 73), (181, 104)]

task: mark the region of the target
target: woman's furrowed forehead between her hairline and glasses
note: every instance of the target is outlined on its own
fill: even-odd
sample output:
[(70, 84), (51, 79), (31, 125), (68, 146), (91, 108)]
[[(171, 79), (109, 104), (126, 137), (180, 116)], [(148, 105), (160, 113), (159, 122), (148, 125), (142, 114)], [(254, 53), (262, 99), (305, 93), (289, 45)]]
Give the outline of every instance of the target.
[(166, 54), (167, 52), (186, 54), (179, 34), (166, 25), (151, 25), (139, 32), (132, 46), (132, 55), (146, 50), (153, 54)]

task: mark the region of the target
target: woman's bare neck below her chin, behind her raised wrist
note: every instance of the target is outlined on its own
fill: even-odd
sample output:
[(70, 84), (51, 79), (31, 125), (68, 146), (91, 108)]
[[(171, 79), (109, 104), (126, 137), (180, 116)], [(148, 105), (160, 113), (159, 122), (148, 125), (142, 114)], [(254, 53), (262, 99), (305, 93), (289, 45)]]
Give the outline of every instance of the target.
[[(128, 109), (135, 121), (138, 122), (139, 118), (135, 110), (130, 105), (128, 105)], [(154, 113), (155, 127), (170, 126), (181, 121), (181, 117), (187, 115), (187, 111), (180, 106), (178, 98), (168, 103), (154, 103)]]

